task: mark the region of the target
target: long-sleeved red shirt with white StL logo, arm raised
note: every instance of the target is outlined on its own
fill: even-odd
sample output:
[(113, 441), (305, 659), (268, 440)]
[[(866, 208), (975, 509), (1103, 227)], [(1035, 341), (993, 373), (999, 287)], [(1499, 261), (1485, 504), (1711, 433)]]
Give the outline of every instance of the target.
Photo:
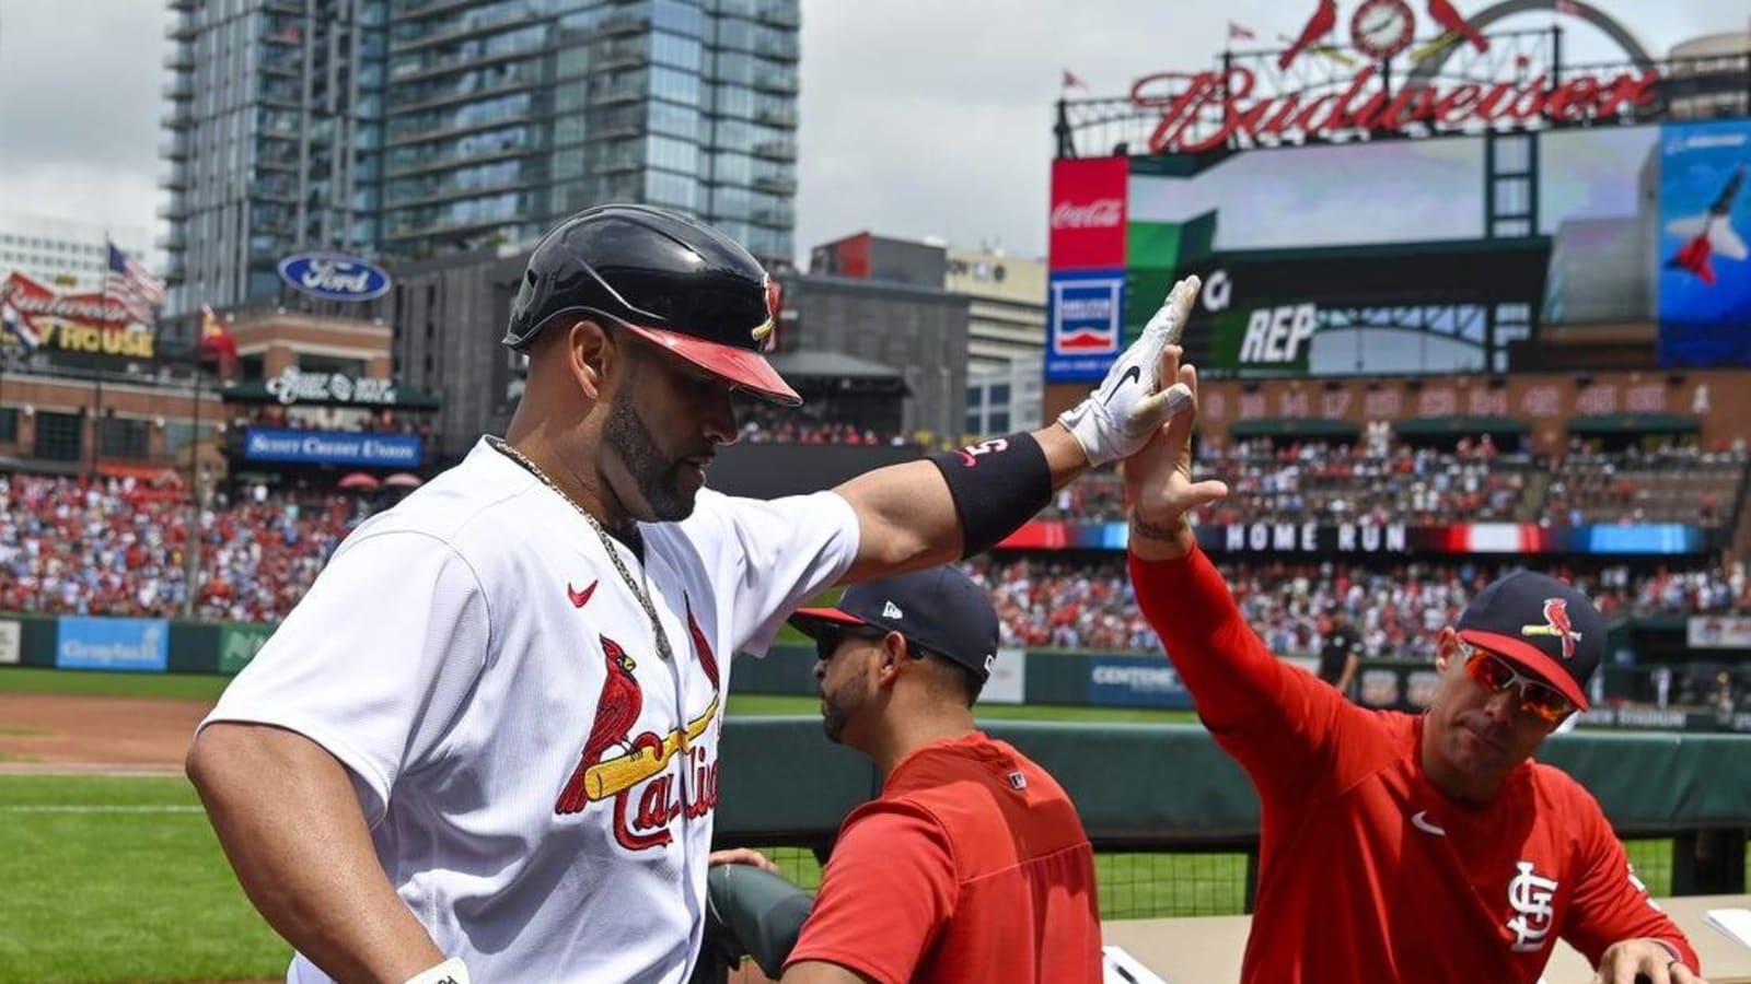
[(1245, 984), (1530, 984), (1557, 938), (1597, 965), (1651, 937), (1698, 970), (1567, 774), (1527, 762), (1490, 804), (1452, 800), (1424, 776), (1424, 720), (1364, 711), (1266, 651), (1203, 552), (1131, 557), (1131, 578), (1198, 714), (1259, 790)]

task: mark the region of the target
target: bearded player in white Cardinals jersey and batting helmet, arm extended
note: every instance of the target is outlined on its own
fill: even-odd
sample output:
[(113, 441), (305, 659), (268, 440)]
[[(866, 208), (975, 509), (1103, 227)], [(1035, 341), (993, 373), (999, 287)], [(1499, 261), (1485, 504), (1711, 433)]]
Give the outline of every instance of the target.
[(772, 503), (702, 488), (777, 291), (725, 235), (585, 210), (536, 247), (508, 434), (341, 546), (187, 772), (289, 980), (679, 982), (704, 926), (728, 658), (833, 581), (982, 552), (1140, 448), (1182, 284), (1059, 422)]

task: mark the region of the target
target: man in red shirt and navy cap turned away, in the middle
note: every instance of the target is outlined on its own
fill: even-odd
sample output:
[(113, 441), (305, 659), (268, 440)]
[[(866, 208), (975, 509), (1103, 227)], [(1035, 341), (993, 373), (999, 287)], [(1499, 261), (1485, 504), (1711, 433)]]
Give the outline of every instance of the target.
[(846, 818), (784, 984), (1100, 984), (1094, 851), (1058, 783), (974, 728), (996, 609), (956, 567), (802, 609), (826, 737), (881, 797)]

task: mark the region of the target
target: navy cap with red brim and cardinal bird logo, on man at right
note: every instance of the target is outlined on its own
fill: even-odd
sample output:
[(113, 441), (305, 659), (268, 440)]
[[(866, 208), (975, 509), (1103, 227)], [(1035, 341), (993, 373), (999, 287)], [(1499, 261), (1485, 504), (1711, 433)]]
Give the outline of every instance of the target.
[(1586, 681), (1606, 655), (1606, 618), (1557, 578), (1516, 571), (1492, 581), (1459, 615), (1459, 637), (1488, 650), (1586, 709)]

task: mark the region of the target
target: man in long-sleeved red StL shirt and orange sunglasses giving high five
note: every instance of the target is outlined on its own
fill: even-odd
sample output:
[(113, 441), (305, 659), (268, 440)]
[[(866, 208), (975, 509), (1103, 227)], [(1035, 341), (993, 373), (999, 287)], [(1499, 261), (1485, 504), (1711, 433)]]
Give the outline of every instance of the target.
[[(1178, 355), (1163, 373), (1196, 392)], [(1697, 984), (1697, 954), (1599, 804), (1530, 762), (1586, 707), (1606, 644), (1592, 602), (1543, 574), (1501, 578), (1441, 629), (1427, 713), (1355, 707), (1268, 653), (1198, 550), (1185, 515), (1227, 487), (1191, 480), (1191, 429), (1178, 415), (1126, 464), (1131, 580), (1198, 714), (1259, 790), (1241, 980), (1530, 984), (1560, 937), (1599, 982)]]

